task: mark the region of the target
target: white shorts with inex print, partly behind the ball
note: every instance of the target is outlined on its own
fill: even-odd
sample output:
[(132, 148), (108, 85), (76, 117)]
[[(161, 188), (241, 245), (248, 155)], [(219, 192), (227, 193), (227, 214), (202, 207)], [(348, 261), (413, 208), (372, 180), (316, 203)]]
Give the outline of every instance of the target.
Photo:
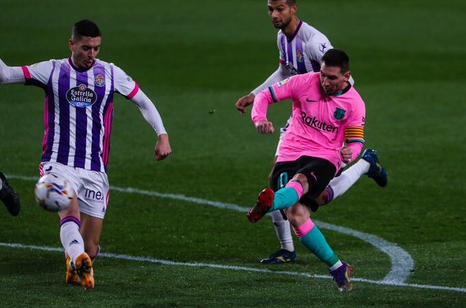
[(42, 162), (39, 165), (40, 177), (53, 173), (67, 179), (77, 194), (79, 211), (89, 216), (105, 216), (110, 186), (104, 172), (65, 166), (57, 162)]

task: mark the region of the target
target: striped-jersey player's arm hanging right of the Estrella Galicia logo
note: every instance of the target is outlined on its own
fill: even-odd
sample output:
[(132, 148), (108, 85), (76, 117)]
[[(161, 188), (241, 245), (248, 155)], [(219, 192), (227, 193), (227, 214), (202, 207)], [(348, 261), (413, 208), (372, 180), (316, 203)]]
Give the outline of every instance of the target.
[(121, 68), (117, 66), (114, 66), (114, 68), (115, 90), (138, 106), (140, 113), (143, 114), (147, 123), (156, 131), (157, 143), (154, 149), (154, 156), (157, 160), (164, 159), (171, 154), (171, 147), (169, 136), (156, 106), (131, 77), (127, 76)]

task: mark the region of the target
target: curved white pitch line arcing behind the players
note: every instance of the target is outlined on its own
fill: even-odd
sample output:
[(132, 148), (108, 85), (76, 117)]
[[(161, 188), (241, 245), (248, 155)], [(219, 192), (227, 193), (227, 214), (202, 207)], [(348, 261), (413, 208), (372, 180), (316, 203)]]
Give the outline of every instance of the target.
[[(12, 179), (21, 179), (25, 181), (37, 181), (38, 180), (37, 177), (22, 177), (22, 176), (16, 176), (16, 175), (9, 175), (9, 177)], [(240, 205), (231, 204), (231, 203), (221, 203), (221, 202), (210, 201), (210, 200), (205, 200), (201, 198), (193, 198), (193, 197), (184, 196), (182, 194), (163, 194), (161, 192), (154, 192), (151, 190), (138, 190), (137, 188), (120, 188), (116, 186), (111, 186), (110, 190), (113, 190), (116, 192), (125, 192), (128, 194), (143, 194), (146, 196), (155, 196), (158, 198), (169, 198), (169, 199), (180, 200), (180, 201), (185, 201), (189, 203), (196, 203), (200, 205), (209, 205), (212, 207), (219, 207), (222, 209), (232, 209), (234, 211), (241, 211), (241, 212), (249, 211), (249, 208), (241, 207)], [(346, 227), (340, 227), (335, 224), (329, 224), (327, 222), (321, 222), (319, 220), (314, 220), (314, 222), (323, 229), (329, 229), (329, 230), (336, 231), (339, 233), (352, 235), (355, 238), (358, 238), (360, 240), (363, 240), (364, 242), (367, 242), (373, 245), (379, 251), (382, 251), (383, 253), (387, 254), (391, 260), (391, 270), (382, 280), (384, 283), (404, 283), (404, 281), (406, 281), (406, 279), (409, 277), (411, 270), (414, 269), (413, 258), (409, 255), (409, 253), (407, 253), (402, 248), (397, 246), (397, 244), (393, 244), (391, 242), (388, 242), (387, 240), (384, 240), (382, 238), (379, 238), (376, 235), (372, 235), (369, 233), (352, 230)]]

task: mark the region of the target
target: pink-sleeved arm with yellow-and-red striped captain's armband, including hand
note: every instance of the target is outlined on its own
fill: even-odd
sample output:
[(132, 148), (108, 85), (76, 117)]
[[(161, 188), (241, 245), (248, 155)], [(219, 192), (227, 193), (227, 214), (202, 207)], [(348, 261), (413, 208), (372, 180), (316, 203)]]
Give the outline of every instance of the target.
[[(345, 127), (345, 142), (341, 154), (345, 164), (354, 161), (359, 156), (364, 146), (364, 125), (366, 108), (362, 100), (355, 104), (354, 112), (350, 114)], [(351, 155), (347, 155), (347, 150), (351, 150)], [(345, 161), (346, 160), (346, 161)]]

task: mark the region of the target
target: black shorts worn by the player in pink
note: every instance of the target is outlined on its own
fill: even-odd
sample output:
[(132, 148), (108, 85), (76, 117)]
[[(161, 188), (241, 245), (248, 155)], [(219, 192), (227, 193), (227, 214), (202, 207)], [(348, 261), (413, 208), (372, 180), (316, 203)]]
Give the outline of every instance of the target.
[(308, 179), (309, 191), (299, 199), (299, 202), (304, 198), (314, 199), (326, 189), (335, 171), (334, 164), (319, 157), (302, 156), (293, 162), (278, 162), (272, 171), (272, 189), (276, 192), (284, 188), (297, 173), (302, 173)]

